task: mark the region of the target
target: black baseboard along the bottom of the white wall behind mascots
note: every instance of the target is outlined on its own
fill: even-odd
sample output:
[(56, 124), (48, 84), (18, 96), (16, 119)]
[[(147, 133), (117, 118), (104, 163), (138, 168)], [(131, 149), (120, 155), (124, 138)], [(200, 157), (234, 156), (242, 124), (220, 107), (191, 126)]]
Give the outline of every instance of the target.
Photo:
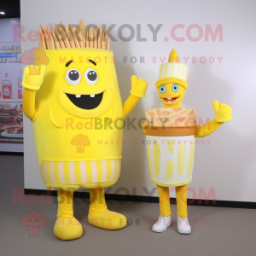
[[(47, 194), (50, 196), (57, 196), (56, 190), (46, 189), (24, 189), (25, 195), (42, 195)], [(77, 198), (90, 198), (89, 192), (74, 192), (74, 197)], [(148, 203), (159, 203), (159, 197), (155, 196), (143, 196), (143, 195), (116, 195), (106, 194), (106, 200), (113, 201), (136, 201), (136, 202), (148, 202)], [(171, 203), (176, 204), (176, 199), (171, 198)], [(220, 200), (198, 200), (188, 199), (189, 206), (200, 206), (200, 207), (230, 207), (230, 208), (247, 208), (256, 209), (256, 202), (253, 201), (220, 201)]]

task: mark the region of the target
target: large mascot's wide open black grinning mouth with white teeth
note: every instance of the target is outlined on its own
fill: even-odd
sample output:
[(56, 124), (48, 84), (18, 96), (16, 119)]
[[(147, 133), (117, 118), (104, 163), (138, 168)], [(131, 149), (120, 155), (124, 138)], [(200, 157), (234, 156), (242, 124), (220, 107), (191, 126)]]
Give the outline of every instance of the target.
[[(104, 91), (103, 91), (104, 92)], [(68, 99), (78, 108), (90, 110), (97, 108), (102, 102), (103, 92), (99, 94), (79, 95), (66, 93)]]

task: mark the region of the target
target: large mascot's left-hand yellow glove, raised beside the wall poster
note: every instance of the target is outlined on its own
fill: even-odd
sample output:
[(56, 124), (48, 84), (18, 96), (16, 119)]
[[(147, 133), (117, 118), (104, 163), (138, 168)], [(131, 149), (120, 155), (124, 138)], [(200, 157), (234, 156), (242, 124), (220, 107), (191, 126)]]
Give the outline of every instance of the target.
[[(39, 69), (38, 69), (39, 67)], [(22, 86), (29, 90), (39, 90), (44, 80), (46, 66), (26, 66), (23, 74)]]

